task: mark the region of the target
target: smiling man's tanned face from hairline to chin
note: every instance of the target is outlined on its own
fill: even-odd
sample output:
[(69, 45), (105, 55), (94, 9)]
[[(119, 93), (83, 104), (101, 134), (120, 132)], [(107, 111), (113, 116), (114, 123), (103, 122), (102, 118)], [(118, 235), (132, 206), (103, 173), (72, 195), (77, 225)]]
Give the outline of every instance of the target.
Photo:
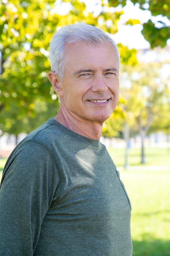
[(68, 58), (60, 80), (61, 109), (80, 122), (104, 122), (119, 101), (119, 63), (114, 47), (66, 45)]

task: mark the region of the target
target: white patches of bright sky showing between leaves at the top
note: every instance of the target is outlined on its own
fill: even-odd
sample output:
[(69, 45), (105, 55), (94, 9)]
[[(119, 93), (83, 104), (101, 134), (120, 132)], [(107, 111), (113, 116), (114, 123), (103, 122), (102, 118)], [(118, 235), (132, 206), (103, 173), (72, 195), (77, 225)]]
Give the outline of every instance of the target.
[[(94, 11), (94, 15), (98, 15), (101, 11), (100, 0), (79, 0), (85, 2), (87, 6), (87, 11)], [(56, 11), (61, 14), (68, 13), (71, 7), (70, 3), (64, 3), (61, 0), (57, 0)], [(117, 10), (120, 10), (121, 6), (117, 7)], [(114, 8), (115, 10), (115, 8)], [(124, 15), (121, 16), (118, 25), (117, 34), (113, 35), (113, 39), (116, 43), (122, 43), (127, 45), (129, 49), (148, 49), (150, 44), (144, 39), (144, 36), (141, 34), (142, 25), (123, 25), (128, 19), (139, 19), (141, 23), (147, 22), (151, 18), (150, 11), (142, 11), (139, 9), (139, 4), (132, 4), (132, 2), (127, 1), (126, 6), (123, 8)]]

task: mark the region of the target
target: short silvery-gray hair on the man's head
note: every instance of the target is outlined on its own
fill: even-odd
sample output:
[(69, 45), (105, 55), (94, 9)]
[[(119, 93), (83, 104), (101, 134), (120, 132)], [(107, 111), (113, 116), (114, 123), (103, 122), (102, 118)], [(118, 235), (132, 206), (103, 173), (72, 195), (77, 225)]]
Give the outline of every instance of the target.
[(104, 31), (82, 22), (67, 25), (54, 33), (50, 43), (51, 70), (61, 78), (64, 78), (66, 68), (66, 57), (64, 57), (66, 44), (78, 42), (83, 42), (91, 46), (100, 46), (105, 45), (106, 43), (111, 43), (115, 48), (119, 61), (119, 52), (116, 43)]

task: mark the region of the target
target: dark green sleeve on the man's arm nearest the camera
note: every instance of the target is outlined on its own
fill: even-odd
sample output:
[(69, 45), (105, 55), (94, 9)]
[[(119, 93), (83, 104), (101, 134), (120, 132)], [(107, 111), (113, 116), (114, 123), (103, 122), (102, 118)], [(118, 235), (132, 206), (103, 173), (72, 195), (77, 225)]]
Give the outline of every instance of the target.
[(0, 256), (31, 256), (59, 186), (50, 151), (26, 142), (11, 155), (0, 188)]

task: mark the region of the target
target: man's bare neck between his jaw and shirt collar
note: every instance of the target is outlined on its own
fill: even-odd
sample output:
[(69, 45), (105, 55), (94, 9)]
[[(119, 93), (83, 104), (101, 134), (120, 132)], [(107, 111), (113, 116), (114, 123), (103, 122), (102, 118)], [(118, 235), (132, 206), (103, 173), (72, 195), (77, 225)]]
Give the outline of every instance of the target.
[(72, 130), (84, 137), (97, 140), (101, 137), (103, 122), (81, 122), (75, 117), (67, 115), (67, 113), (63, 112), (61, 108), (54, 119), (69, 130)]

